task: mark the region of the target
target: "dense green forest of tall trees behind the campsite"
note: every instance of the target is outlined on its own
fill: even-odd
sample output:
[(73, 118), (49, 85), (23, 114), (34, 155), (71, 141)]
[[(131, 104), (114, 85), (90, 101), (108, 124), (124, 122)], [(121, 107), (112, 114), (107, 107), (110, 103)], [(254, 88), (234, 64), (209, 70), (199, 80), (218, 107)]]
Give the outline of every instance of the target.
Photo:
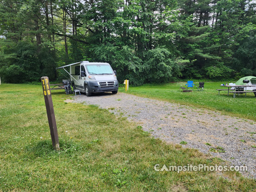
[(254, 0), (0, 0), (0, 77), (108, 62), (134, 85), (256, 75)]

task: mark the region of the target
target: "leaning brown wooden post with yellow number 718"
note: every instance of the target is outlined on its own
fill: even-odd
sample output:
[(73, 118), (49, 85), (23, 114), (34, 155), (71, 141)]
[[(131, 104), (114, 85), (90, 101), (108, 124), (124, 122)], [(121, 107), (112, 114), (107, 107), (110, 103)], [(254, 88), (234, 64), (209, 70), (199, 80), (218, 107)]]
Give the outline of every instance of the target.
[(50, 133), (52, 137), (52, 146), (55, 150), (60, 150), (59, 145), (59, 137), (57, 132), (57, 125), (54, 115), (54, 109), (52, 104), (52, 95), (50, 90), (49, 78), (48, 77), (41, 77), (43, 93), (44, 93), (44, 102), (46, 106), (46, 112), (48, 117), (48, 122), (50, 126)]

